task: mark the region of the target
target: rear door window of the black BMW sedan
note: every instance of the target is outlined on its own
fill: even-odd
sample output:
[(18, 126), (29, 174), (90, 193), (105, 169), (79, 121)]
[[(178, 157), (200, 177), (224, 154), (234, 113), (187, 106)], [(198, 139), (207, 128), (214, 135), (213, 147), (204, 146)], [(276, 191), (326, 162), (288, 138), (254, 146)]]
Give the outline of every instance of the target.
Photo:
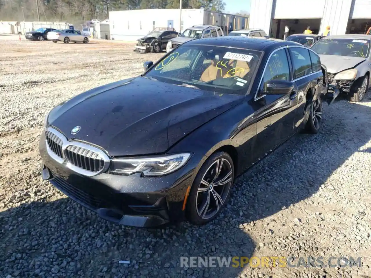
[(308, 49), (303, 47), (290, 47), (289, 53), (294, 68), (294, 79), (312, 73), (312, 62)]

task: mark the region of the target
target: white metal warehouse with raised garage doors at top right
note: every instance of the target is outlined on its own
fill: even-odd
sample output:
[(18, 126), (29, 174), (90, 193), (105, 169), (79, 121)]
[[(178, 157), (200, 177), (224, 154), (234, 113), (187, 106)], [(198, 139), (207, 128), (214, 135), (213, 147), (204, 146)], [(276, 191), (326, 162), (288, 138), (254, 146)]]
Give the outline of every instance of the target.
[(328, 25), (330, 34), (364, 34), (371, 26), (371, 0), (251, 0), (249, 26), (270, 37), (282, 39), (285, 28), (303, 33), (307, 26), (321, 34)]

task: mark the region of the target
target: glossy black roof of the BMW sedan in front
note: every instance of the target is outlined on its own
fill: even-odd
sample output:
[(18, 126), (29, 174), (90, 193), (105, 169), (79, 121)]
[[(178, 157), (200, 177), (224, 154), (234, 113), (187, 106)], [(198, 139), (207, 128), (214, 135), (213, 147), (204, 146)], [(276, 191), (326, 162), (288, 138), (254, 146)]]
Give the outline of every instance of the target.
[(267, 39), (260, 37), (240, 37), (240, 36), (221, 36), (221, 37), (208, 37), (201, 38), (197, 40), (190, 40), (188, 44), (207, 44), (213, 46), (225, 46), (231, 48), (240, 48), (240, 49), (250, 49), (257, 51), (268, 51), (270, 52), (273, 49), (276, 49), (280, 46), (301, 46), (301, 44), (296, 42), (290, 42), (287, 40), (279, 39)]

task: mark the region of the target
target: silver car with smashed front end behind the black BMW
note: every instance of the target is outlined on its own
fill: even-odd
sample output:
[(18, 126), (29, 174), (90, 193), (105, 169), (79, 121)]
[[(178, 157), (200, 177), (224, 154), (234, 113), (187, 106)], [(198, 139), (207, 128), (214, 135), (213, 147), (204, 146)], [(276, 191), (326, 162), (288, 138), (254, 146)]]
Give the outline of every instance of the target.
[(370, 35), (326, 36), (311, 47), (327, 67), (329, 84), (352, 102), (360, 102), (370, 87), (370, 40)]

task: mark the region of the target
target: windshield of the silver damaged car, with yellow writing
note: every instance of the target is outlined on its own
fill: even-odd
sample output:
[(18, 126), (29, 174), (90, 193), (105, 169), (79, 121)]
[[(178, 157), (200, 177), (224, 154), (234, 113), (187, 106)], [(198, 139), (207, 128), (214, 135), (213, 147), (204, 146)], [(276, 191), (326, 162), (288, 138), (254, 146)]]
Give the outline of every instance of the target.
[(311, 49), (317, 54), (365, 58), (370, 51), (370, 40), (321, 39)]

